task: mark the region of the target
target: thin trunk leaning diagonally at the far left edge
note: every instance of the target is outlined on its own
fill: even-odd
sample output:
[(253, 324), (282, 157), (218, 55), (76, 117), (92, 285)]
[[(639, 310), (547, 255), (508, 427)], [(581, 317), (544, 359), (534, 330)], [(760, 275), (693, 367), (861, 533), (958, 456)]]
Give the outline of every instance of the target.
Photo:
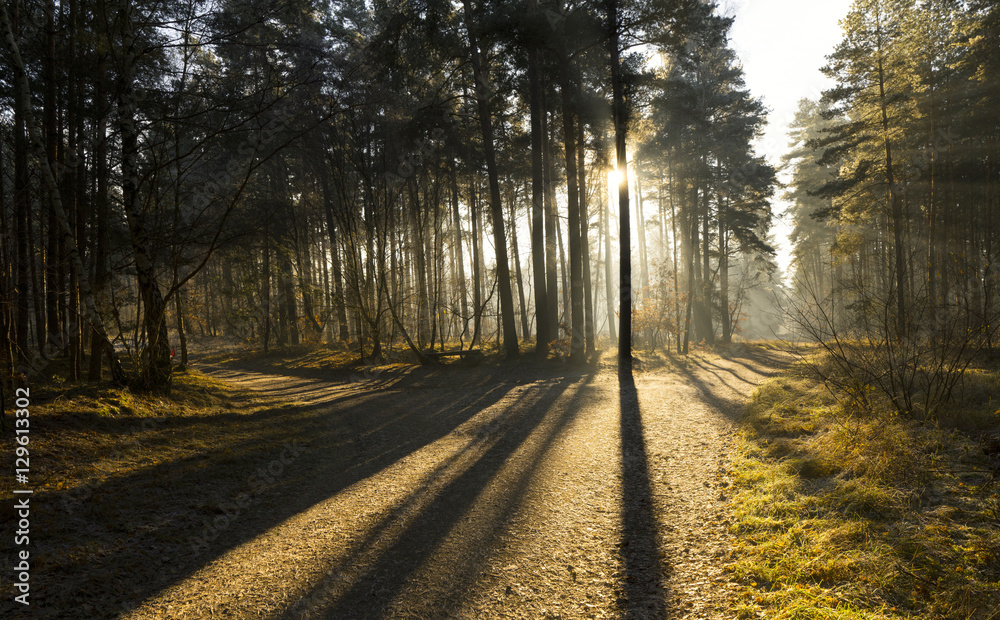
[(97, 304), (94, 302), (94, 291), (90, 286), (87, 271), (83, 266), (83, 260), (80, 258), (80, 252), (76, 247), (73, 229), (70, 228), (69, 220), (66, 218), (66, 212), (63, 209), (62, 199), (59, 195), (59, 188), (56, 185), (55, 175), (52, 172), (51, 162), (45, 156), (45, 145), (32, 119), (30, 104), (31, 88), (28, 85), (27, 74), (24, 71), (24, 61), (21, 58), (21, 50), (17, 45), (17, 40), (14, 38), (14, 31), (11, 27), (6, 5), (0, 6), (0, 20), (2, 20), (2, 24), (0, 25), (3, 27), (4, 44), (7, 47), (11, 60), (14, 62), (15, 88), (18, 91), (18, 100), (21, 102), (21, 116), (28, 131), (28, 138), (35, 147), (36, 154), (41, 162), (42, 179), (45, 182), (49, 198), (55, 209), (56, 220), (62, 235), (66, 238), (66, 251), (73, 266), (73, 275), (76, 277), (77, 286), (80, 287), (80, 294), (83, 297), (87, 319), (104, 342), (104, 352), (107, 354), (111, 365), (112, 379), (119, 385), (125, 385), (125, 371), (122, 369), (121, 362), (118, 361), (118, 356), (115, 354), (114, 347), (111, 345), (107, 331), (104, 328), (104, 322), (97, 312)]

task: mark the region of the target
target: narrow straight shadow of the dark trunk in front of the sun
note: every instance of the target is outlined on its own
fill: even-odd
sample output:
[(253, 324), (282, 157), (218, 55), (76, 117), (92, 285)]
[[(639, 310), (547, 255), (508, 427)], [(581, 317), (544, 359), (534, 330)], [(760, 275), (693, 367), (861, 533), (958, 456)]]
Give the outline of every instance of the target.
[(622, 541), (625, 598), (619, 609), (625, 618), (664, 618), (667, 591), (660, 562), (649, 458), (643, 437), (642, 412), (632, 369), (618, 371), (621, 407)]

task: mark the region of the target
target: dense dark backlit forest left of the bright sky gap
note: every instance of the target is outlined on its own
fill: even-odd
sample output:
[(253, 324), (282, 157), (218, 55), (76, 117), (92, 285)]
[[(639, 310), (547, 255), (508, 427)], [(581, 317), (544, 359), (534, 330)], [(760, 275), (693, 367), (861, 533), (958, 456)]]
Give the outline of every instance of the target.
[(536, 4), (12, 6), (8, 367), (729, 342), (777, 183), (731, 19)]

